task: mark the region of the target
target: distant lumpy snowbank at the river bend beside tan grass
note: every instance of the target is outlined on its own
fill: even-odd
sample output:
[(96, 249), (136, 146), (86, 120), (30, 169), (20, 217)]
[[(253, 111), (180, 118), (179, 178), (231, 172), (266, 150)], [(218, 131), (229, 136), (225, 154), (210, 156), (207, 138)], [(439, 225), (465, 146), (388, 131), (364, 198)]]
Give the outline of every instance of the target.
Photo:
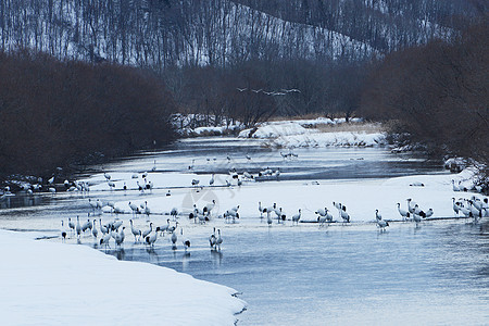
[[(322, 133), (319, 129), (311, 127), (324, 125), (340, 125), (343, 121), (312, 120), (312, 121), (292, 121), (292, 122), (273, 122), (258, 127), (256, 130), (246, 129), (239, 134), (239, 138), (259, 138), (268, 139), (266, 146), (275, 148), (298, 148), (298, 147), (372, 147), (386, 145), (386, 135), (378, 131), (342, 131), (330, 130)], [(308, 127), (308, 128), (306, 128)]]

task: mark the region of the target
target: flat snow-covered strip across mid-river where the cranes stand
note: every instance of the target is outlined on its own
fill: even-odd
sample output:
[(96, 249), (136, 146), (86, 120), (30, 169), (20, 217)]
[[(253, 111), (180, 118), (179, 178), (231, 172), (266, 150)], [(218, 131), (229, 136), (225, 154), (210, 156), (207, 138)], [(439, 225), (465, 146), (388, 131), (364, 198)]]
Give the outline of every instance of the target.
[[(283, 208), (284, 212), (291, 215), (296, 214), (298, 209), (302, 209), (302, 220), (315, 220), (315, 211), (328, 208), (337, 214), (333, 206), (333, 201), (341, 202), (348, 208), (351, 221), (354, 223), (368, 223), (375, 221), (374, 211), (378, 209), (388, 220), (400, 220), (397, 211), (397, 203), (405, 206), (408, 198), (417, 202), (423, 210), (432, 209), (434, 217), (451, 217), (453, 210), (451, 205), (452, 197), (469, 199), (472, 196), (482, 198), (480, 195), (472, 192), (454, 192), (452, 189), (452, 179), (456, 184), (462, 181), (466, 188), (472, 188), (472, 170), (465, 170), (460, 174), (439, 174), (439, 175), (417, 175), (405, 176), (389, 179), (361, 179), (361, 180), (322, 180), (304, 181), (290, 180), (285, 181), (276, 177), (271, 177), (266, 183), (256, 183), (254, 180), (244, 180), (241, 187), (233, 180), (229, 175), (214, 175), (213, 186), (209, 186), (212, 178), (209, 174), (180, 174), (180, 173), (154, 173), (149, 174), (148, 179), (152, 180), (158, 187), (177, 188), (172, 189), (172, 196), (166, 196), (166, 190), (159, 189), (151, 192), (149, 197), (138, 198), (129, 197), (127, 200), (115, 202), (115, 208), (120, 212), (131, 214), (129, 202), (150, 208), (153, 214), (170, 214), (173, 208), (176, 208), (180, 214), (187, 216), (193, 209), (193, 204), (202, 209), (203, 205), (216, 201), (214, 216), (222, 215), (226, 210), (240, 205), (239, 214), (241, 223), (255, 223), (260, 216), (258, 203), (262, 202), (264, 206), (277, 203), (277, 208)], [(130, 174), (114, 174), (117, 183), (126, 183), (129, 189), (137, 189), (137, 179), (131, 179)], [(108, 190), (108, 186), (102, 181), (103, 175), (96, 175), (88, 179), (91, 184), (98, 184), (91, 187), (92, 190)], [(191, 180), (199, 180), (200, 187), (191, 187)], [(142, 183), (139, 179), (140, 183)], [(227, 187), (227, 181), (231, 183)], [(423, 186), (421, 186), (423, 184)], [(419, 185), (419, 186), (418, 186)], [(146, 190), (146, 193), (150, 193)], [(404, 208), (405, 209), (405, 208)], [(142, 209), (140, 209), (142, 211)], [(111, 209), (104, 206), (103, 211), (110, 213)], [(129, 218), (126, 216), (123, 218)], [(274, 216), (275, 217), (275, 216)], [(166, 217), (163, 217), (165, 221)], [(181, 223), (185, 225), (185, 218)], [(249, 222), (244, 222), (244, 221)], [(336, 218), (338, 220), (338, 218)]]

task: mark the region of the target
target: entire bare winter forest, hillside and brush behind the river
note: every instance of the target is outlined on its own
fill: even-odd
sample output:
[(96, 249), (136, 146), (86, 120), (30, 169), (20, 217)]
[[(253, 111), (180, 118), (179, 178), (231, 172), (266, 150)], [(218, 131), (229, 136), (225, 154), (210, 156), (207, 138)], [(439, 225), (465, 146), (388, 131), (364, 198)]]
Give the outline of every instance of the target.
[(162, 146), (175, 112), (364, 116), (488, 166), (487, 18), (479, 0), (3, 0), (0, 172)]

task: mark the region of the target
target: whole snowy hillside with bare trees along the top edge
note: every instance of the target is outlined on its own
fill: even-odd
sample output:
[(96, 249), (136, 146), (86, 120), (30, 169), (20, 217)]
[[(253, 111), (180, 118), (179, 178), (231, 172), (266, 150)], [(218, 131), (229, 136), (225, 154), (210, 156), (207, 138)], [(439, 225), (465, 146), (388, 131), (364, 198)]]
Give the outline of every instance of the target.
[[(438, 1), (440, 2), (440, 1)], [(151, 66), (361, 60), (450, 36), (472, 1), (4, 0), (0, 47)], [(472, 3), (472, 4), (471, 4)]]

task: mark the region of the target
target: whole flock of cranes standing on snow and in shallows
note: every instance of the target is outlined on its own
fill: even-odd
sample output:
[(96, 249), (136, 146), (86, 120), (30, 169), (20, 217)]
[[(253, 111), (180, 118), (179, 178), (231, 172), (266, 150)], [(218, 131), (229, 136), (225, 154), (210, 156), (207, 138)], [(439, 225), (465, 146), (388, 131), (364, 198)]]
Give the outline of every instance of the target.
[[(298, 154), (293, 153), (291, 150), (289, 152), (279, 152), (283, 160), (293, 160), (298, 158)], [(229, 153), (225, 154), (224, 162), (226, 164), (234, 164), (239, 158), (233, 156)], [(252, 154), (247, 153), (242, 160), (251, 164), (253, 162)], [(208, 164), (215, 163), (216, 158), (206, 158)], [(254, 163), (253, 163), (254, 164)], [(188, 166), (188, 170), (196, 171), (199, 168), (199, 165), (196, 163), (193, 159), (191, 164)], [(156, 172), (156, 161), (154, 160), (153, 166), (149, 170), (151, 173)], [(193, 176), (191, 179), (191, 187), (197, 191), (203, 189), (204, 187), (231, 187), (234, 185), (241, 186), (243, 181), (254, 181), (254, 180), (267, 180), (267, 179), (279, 179), (283, 172), (279, 167), (262, 167), (260, 170), (255, 170), (254, 173), (250, 171), (238, 172), (236, 167), (230, 166), (228, 168), (228, 177), (222, 179), (223, 175), (212, 174), (211, 178), (206, 180), (201, 180), (199, 177)], [(150, 180), (151, 174), (148, 172), (142, 173), (134, 173), (131, 175), (133, 179), (136, 179), (137, 188), (141, 193), (146, 193), (149, 191), (150, 193), (154, 189), (153, 180)], [(117, 179), (117, 177), (113, 177), (108, 172), (103, 172), (104, 183), (106, 183), (110, 190), (128, 190), (126, 181), (122, 183)], [(54, 184), (55, 177), (52, 176), (48, 180), (48, 191), (51, 193), (57, 192), (57, 187)], [(70, 181), (67, 179), (63, 183), (66, 191), (80, 191), (82, 193), (89, 195), (90, 184), (86, 181)], [(205, 186), (204, 186), (205, 185)], [(206, 186), (209, 185), (209, 186)], [(218, 186), (222, 185), (222, 186)], [(417, 185), (417, 184), (412, 184)], [(424, 184), (419, 184), (419, 187), (424, 186)], [(455, 192), (467, 191), (468, 189), (464, 187), (461, 181), (452, 180), (451, 183), (452, 190)], [(40, 190), (42, 188), (41, 185), (38, 186), (29, 186), (27, 193), (33, 193), (35, 190)], [(130, 188), (135, 189), (135, 188)], [(10, 189), (5, 190), (9, 191)], [(191, 190), (191, 191), (195, 191)], [(166, 197), (170, 197), (171, 190), (165, 190)], [(351, 200), (351, 199), (350, 199)], [(348, 199), (347, 199), (348, 201)], [(418, 226), (423, 221), (430, 218), (434, 216), (434, 210), (431, 208), (422, 208), (418, 203), (416, 203), (413, 199), (408, 198), (405, 200), (405, 205), (401, 204), (401, 202), (396, 203), (397, 211), (399, 213), (398, 216), (388, 216), (388, 220), (383, 218), (380, 210), (376, 209), (372, 212), (373, 214), (373, 223), (377, 226), (380, 233), (385, 233), (386, 229), (391, 225), (392, 222), (412, 222), (416, 226)], [(115, 248), (122, 248), (125, 242), (125, 224), (124, 221), (118, 217), (118, 214), (124, 214), (126, 211), (121, 206), (116, 205), (114, 201), (103, 201), (100, 199), (88, 199), (88, 218), (86, 221), (82, 221), (79, 216), (76, 216), (76, 222), (74, 218), (68, 217), (67, 221), (62, 221), (61, 223), (61, 239), (62, 241), (66, 241), (73, 235), (80, 241), (82, 239), (86, 239), (87, 237), (91, 237), (95, 240), (97, 246), (101, 248), (111, 248), (111, 242), (115, 244)], [(108, 206), (110, 209), (111, 215), (115, 213), (115, 218), (111, 220), (102, 224), (102, 218), (95, 216), (102, 215), (103, 212), (108, 212), (108, 210), (103, 211), (103, 208)], [(143, 244), (150, 248), (154, 248), (161, 239), (166, 238), (168, 243), (172, 246), (174, 250), (176, 250), (179, 243), (183, 244), (183, 249), (185, 252), (190, 250), (191, 242), (190, 239), (184, 237), (184, 228), (181, 227), (181, 223), (179, 223), (183, 216), (187, 216), (188, 221), (192, 222), (196, 225), (205, 226), (209, 223), (212, 223), (214, 218), (222, 218), (226, 224), (235, 224), (238, 223), (241, 217), (240, 205), (236, 204), (230, 208), (218, 208), (216, 199), (212, 199), (203, 205), (198, 205), (198, 202), (193, 203), (190, 211), (185, 210), (185, 208), (178, 209), (173, 208), (170, 213), (167, 213), (171, 218), (166, 218), (165, 223), (158, 224), (159, 221), (151, 221), (151, 216), (155, 214), (153, 210), (150, 208), (147, 200), (143, 202), (134, 202), (128, 201), (127, 208), (130, 210), (131, 218), (128, 220), (130, 224), (130, 234), (134, 238), (134, 244)], [(385, 205), (383, 206), (385, 208)], [(480, 218), (485, 216), (489, 216), (489, 204), (488, 199), (479, 199), (473, 196), (471, 199), (452, 198), (452, 208), (453, 208), (453, 217), (456, 218), (473, 218), (474, 223), (477, 223)], [(291, 209), (291, 208), (289, 208)], [(220, 211), (222, 212), (220, 214)], [(329, 226), (331, 224), (341, 224), (341, 225), (350, 225), (355, 221), (355, 214), (358, 211), (351, 215), (350, 210), (347, 209), (344, 202), (333, 201), (331, 205), (322, 205), (317, 210), (310, 211), (304, 206), (293, 209), (292, 214), (288, 214), (286, 209), (276, 202), (269, 203), (267, 205), (263, 204), (262, 201), (258, 202), (258, 213), (256, 217), (260, 217), (261, 223), (266, 222), (268, 227), (272, 227), (274, 224), (286, 225), (288, 221), (290, 221), (290, 226), (298, 226), (300, 223), (317, 223), (319, 227)], [(311, 220), (311, 212), (314, 214)], [(136, 223), (136, 220), (140, 215), (146, 215), (146, 224), (141, 225), (141, 223)], [(250, 216), (247, 216), (250, 217)], [(266, 217), (266, 220), (265, 220)], [(308, 220), (309, 218), (309, 220)], [(99, 224), (99, 225), (97, 225)], [(178, 236), (179, 234), (179, 236)], [(165, 237), (168, 235), (170, 237)], [(180, 240), (180, 241), (179, 241)], [(212, 250), (220, 251), (223, 244), (222, 229), (213, 227), (213, 231), (209, 237), (209, 246)]]

